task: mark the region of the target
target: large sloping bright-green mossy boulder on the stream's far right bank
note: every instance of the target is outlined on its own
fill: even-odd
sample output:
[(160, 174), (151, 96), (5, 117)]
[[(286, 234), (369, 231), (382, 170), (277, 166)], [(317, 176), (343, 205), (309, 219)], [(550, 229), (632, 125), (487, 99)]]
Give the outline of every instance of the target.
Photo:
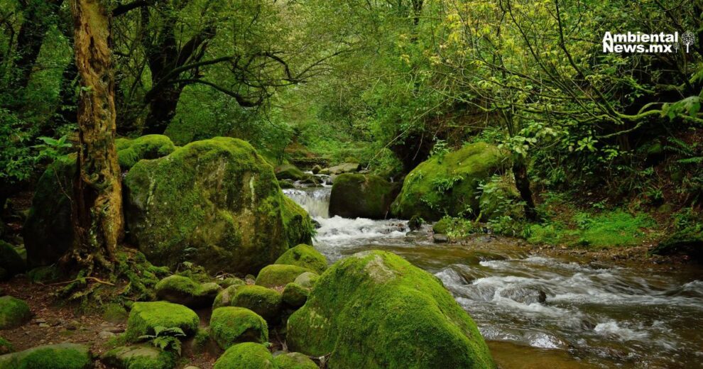
[(488, 143), (472, 143), (420, 163), (403, 182), (391, 212), (403, 219), (421, 216), (436, 221), (444, 215), (479, 214), (479, 184), (506, 165), (501, 150)]

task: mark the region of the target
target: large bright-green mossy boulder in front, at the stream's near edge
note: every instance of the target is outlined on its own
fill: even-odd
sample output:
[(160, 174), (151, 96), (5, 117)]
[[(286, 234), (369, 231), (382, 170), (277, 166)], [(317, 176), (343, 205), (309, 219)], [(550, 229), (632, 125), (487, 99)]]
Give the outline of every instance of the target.
[(495, 368), (476, 324), (436, 277), (384, 251), (334, 263), (288, 319), (288, 347), (329, 368)]

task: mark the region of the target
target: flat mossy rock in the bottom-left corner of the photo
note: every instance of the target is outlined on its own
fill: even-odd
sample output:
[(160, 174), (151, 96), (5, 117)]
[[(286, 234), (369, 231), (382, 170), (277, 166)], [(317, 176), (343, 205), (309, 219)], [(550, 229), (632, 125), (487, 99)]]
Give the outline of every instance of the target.
[(59, 343), (0, 356), (0, 369), (87, 369), (93, 367), (86, 346)]

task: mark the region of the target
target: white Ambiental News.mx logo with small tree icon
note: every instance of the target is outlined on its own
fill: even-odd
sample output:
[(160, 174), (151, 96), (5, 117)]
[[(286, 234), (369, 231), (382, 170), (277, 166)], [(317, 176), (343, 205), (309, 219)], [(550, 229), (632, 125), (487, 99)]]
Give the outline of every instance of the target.
[(603, 36), (604, 53), (677, 53), (684, 45), (686, 53), (693, 45), (695, 35), (686, 31), (679, 38), (679, 33), (610, 33)]

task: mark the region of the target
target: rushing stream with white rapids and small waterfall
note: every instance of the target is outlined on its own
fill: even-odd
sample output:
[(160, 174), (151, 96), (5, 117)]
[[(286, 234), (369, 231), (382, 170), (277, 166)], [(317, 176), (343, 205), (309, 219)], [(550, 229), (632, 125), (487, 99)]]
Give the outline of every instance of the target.
[(502, 368), (703, 368), (703, 272), (530, 254), (477, 236), (435, 244), (407, 223), (329, 217), (329, 187), (284, 190), (320, 223), (329, 261), (388, 250), (433, 273), (471, 314)]

